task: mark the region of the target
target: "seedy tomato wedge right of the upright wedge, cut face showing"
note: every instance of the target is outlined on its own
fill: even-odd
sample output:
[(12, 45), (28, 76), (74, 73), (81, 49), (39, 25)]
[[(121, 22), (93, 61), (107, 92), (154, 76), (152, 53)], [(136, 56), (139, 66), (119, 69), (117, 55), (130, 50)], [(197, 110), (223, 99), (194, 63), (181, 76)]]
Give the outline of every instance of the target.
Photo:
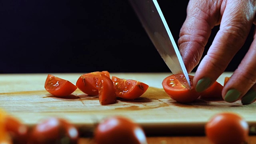
[(137, 80), (122, 79), (112, 76), (112, 81), (116, 88), (116, 96), (127, 100), (140, 97), (148, 89), (148, 85)]

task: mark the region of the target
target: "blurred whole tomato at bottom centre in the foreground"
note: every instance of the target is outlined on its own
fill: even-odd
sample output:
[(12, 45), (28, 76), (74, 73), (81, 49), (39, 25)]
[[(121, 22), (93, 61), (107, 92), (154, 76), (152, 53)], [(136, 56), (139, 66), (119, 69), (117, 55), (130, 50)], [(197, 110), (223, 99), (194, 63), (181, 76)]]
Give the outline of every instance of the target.
[(121, 116), (102, 120), (94, 130), (94, 140), (96, 144), (147, 144), (143, 129)]

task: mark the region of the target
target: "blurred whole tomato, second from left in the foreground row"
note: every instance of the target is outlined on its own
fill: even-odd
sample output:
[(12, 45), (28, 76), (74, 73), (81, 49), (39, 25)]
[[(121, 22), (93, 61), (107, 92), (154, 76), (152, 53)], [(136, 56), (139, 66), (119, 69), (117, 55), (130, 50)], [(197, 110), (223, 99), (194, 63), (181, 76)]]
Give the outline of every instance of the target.
[(29, 144), (77, 144), (78, 130), (62, 118), (47, 118), (31, 131)]

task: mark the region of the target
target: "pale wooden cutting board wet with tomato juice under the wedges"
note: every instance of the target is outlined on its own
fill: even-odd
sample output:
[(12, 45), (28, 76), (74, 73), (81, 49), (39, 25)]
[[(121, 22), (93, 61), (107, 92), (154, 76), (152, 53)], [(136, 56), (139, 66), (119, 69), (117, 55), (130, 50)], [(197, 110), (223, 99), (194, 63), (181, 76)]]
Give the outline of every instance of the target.
[[(53, 74), (76, 84), (80, 73)], [(76, 90), (71, 96), (56, 98), (44, 89), (47, 74), (0, 74), (0, 108), (28, 126), (58, 116), (75, 124), (81, 132), (90, 132), (102, 118), (121, 115), (131, 118), (147, 134), (203, 134), (204, 124), (219, 112), (235, 112), (256, 126), (256, 103), (242, 105), (222, 100), (196, 100), (180, 104), (162, 89), (162, 80), (171, 73), (111, 73), (110, 76), (138, 80), (150, 87), (135, 100), (118, 99), (116, 104), (102, 106), (98, 96), (87, 96)], [(192, 73), (193, 75), (193, 73)], [(222, 85), (226, 72), (218, 78)], [(251, 131), (253, 133), (253, 131)]]

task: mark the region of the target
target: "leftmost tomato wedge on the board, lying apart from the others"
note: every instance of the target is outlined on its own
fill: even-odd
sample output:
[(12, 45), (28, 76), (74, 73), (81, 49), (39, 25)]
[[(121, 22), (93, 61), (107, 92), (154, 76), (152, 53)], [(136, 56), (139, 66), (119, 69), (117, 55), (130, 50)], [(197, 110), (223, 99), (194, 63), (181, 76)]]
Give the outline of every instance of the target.
[(68, 96), (77, 89), (77, 87), (70, 81), (58, 78), (51, 74), (48, 74), (44, 88), (54, 96)]

